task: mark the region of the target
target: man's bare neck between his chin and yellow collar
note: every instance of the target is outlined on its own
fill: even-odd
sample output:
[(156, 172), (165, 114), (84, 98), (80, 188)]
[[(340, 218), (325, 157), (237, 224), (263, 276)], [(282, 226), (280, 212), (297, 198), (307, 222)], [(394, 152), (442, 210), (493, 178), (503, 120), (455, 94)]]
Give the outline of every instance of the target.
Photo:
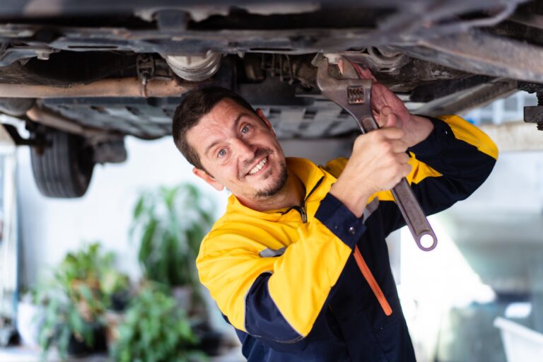
[(298, 176), (292, 173), (288, 174), (286, 184), (274, 196), (262, 199), (238, 199), (242, 204), (256, 211), (268, 211), (276, 209), (284, 209), (290, 206), (300, 206), (305, 197), (305, 186)]

